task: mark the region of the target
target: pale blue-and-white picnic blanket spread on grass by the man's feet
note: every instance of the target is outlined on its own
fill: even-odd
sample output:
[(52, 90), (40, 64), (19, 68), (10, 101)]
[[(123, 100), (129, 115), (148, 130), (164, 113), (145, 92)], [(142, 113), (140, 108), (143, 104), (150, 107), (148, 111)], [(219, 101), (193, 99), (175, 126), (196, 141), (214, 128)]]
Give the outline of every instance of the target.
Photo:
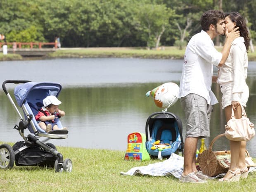
[(147, 166), (134, 167), (127, 172), (121, 172), (121, 175), (173, 175), (175, 178), (180, 178), (182, 172), (183, 156), (172, 153), (170, 158), (165, 161), (149, 164)]

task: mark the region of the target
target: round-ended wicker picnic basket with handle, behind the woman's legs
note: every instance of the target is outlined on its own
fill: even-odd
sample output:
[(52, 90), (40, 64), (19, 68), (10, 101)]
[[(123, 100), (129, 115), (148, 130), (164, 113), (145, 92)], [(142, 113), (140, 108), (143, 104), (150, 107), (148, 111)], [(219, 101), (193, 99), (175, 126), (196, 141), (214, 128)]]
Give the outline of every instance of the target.
[[(210, 177), (219, 175), (220, 173), (226, 173), (230, 164), (230, 150), (228, 151), (212, 151), (213, 143), (220, 137), (225, 136), (225, 133), (217, 135), (209, 146), (209, 149), (204, 150), (201, 154), (198, 154), (198, 163), (201, 171)], [(249, 157), (249, 153), (246, 150), (246, 156)]]

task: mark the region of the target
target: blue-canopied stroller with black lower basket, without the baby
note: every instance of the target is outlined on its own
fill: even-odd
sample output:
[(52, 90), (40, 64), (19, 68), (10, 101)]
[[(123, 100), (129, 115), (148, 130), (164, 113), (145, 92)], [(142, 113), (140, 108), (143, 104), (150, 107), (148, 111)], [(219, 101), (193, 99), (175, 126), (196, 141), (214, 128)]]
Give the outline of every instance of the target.
[[(22, 108), (24, 118), (7, 92), (5, 86), (7, 83), (22, 83), (14, 88), (14, 97), (19, 107)], [(19, 116), (19, 125), (15, 125), (14, 129), (19, 131), (24, 141), (16, 142), (12, 147), (8, 144), (0, 145), (0, 168), (11, 169), (15, 161), (17, 166), (48, 166), (54, 167), (55, 172), (71, 172), (72, 161), (70, 159), (63, 160), (62, 154), (57, 151), (55, 145), (47, 142), (50, 139), (67, 138), (68, 130), (52, 130), (46, 133), (38, 126), (35, 119), (38, 110), (43, 106), (43, 99), (48, 95), (57, 97), (62, 86), (51, 82), (6, 80), (2, 83), (2, 88)], [(60, 121), (57, 125), (62, 128)], [(31, 133), (27, 136), (24, 134), (26, 128)], [(39, 140), (40, 137), (45, 138)]]

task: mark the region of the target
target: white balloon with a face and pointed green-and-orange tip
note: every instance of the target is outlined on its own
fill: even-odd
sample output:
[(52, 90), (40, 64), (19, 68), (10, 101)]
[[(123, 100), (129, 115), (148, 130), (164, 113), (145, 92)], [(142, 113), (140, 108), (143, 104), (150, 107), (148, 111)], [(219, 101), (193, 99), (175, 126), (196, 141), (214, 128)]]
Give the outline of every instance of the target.
[(179, 86), (176, 83), (168, 82), (148, 91), (146, 96), (153, 97), (157, 107), (165, 108), (171, 107), (178, 101)]

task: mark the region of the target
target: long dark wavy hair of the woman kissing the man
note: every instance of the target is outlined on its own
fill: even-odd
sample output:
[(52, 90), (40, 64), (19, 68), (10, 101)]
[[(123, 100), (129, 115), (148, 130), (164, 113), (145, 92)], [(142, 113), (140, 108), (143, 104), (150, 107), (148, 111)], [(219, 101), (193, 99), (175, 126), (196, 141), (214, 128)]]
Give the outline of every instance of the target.
[(244, 38), (244, 44), (245, 44), (246, 50), (248, 52), (249, 47), (250, 47), (250, 45), (249, 45), (250, 38), (248, 36), (248, 31), (247, 31), (247, 27), (246, 27), (244, 18), (238, 12), (226, 13), (225, 17), (229, 17), (232, 22), (236, 23), (235, 28), (239, 27), (238, 30), (240, 31), (240, 36), (242, 36)]

